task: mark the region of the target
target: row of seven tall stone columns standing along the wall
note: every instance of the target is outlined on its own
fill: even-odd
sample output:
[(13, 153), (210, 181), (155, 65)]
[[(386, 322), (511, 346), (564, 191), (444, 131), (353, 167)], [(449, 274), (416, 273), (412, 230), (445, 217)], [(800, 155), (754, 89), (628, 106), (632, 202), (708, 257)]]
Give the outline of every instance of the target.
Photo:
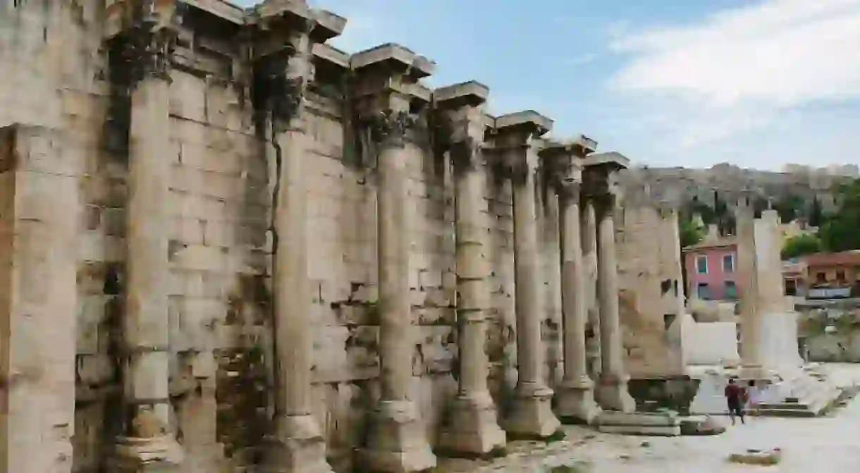
[[(276, 433), (269, 439), (265, 471), (330, 471), (316, 421), (310, 414), (310, 300), (306, 235), (306, 192), (302, 161), (306, 154), (304, 88), (310, 81), (310, 31), (294, 28), (289, 39), (286, 71), (274, 74), (287, 96), (270, 97), (269, 126), (278, 164), (278, 192), (273, 227), (278, 249), (274, 256), (274, 333), (277, 359)], [(126, 435), (118, 444), (117, 470), (157, 468), (181, 470), (181, 449), (170, 431), (167, 292), (167, 215), (169, 189), (169, 71), (163, 54), (169, 28), (140, 32), (149, 54), (146, 68), (132, 93), (131, 167), (129, 177), (129, 273), (126, 325), (126, 402), (130, 408)], [(392, 46), (387, 46), (392, 47)], [(360, 451), (370, 470), (418, 471), (435, 465), (435, 457), (410, 398), (413, 328), (408, 298), (408, 194), (406, 163), (415, 151), (408, 145), (416, 125), (411, 114), (417, 79), (431, 64), (416, 58), (372, 54), (353, 57), (353, 70), (368, 77), (356, 95), (363, 125), (371, 131), (377, 158), (378, 183), (378, 307), (380, 315), (381, 398), (372, 410), (371, 433)], [(422, 67), (423, 66), (423, 67)], [(378, 79), (385, 78), (385, 81)], [(384, 84), (379, 88), (378, 84)], [(447, 94), (447, 96), (446, 96)], [(486, 170), (489, 155), (503, 163), (513, 182), (514, 260), (519, 378), (513, 408), (504, 425), (515, 436), (546, 438), (560, 422), (551, 408), (553, 390), (545, 382), (541, 341), (542, 305), (537, 261), (536, 181), (539, 168), (537, 138), (551, 121), (533, 113), (509, 114), (494, 120), (492, 139), (485, 142), (482, 103), (487, 90), (466, 83), (440, 89), (436, 105), (451, 126), (451, 157), (455, 166), (457, 210), (458, 329), (460, 364), (453, 419), (441, 445), (461, 453), (486, 453), (505, 444), (487, 388), (487, 359), (483, 353), (484, 314), (488, 309), (488, 263), (482, 235)], [(422, 130), (426, 132), (426, 130)], [(484, 149), (484, 144), (490, 149)], [(564, 150), (555, 150), (564, 151)], [(547, 151), (550, 152), (550, 151)], [(577, 151), (582, 156), (584, 150)], [(565, 376), (559, 393), (560, 415), (591, 422), (599, 414), (585, 369), (584, 330), (587, 320), (580, 241), (581, 173), (574, 149), (561, 153), (569, 163), (559, 183), (562, 198), (562, 298), (564, 310)], [(617, 277), (612, 212), (614, 190), (607, 186), (612, 163), (592, 163), (584, 181), (586, 208), (597, 215), (599, 248), (600, 338), (603, 372), (598, 397), (604, 408), (629, 411), (630, 396), (622, 362), (618, 329)]]

